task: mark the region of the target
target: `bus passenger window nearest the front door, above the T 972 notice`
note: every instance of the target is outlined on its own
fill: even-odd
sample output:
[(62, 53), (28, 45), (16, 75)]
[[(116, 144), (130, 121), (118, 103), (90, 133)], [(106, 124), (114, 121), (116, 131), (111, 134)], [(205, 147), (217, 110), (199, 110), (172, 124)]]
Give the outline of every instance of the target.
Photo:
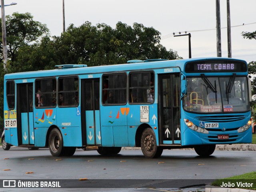
[(129, 75), (129, 103), (153, 103), (154, 73), (137, 72)]

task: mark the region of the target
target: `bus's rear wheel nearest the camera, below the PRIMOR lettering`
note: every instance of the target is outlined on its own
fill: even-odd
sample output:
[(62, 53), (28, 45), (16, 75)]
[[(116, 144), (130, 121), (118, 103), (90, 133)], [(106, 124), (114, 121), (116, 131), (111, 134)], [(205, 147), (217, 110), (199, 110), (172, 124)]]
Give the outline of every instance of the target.
[(49, 140), (49, 150), (54, 157), (63, 155), (63, 140), (60, 131), (57, 128), (54, 128), (50, 132)]

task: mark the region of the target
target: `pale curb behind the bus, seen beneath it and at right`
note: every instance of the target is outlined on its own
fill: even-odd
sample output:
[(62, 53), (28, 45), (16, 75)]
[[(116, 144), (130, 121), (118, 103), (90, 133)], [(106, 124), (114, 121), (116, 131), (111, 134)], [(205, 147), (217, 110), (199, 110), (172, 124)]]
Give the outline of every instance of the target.
[[(122, 150), (141, 150), (140, 147), (122, 147)], [(174, 150), (194, 150), (194, 148), (183, 148)], [(256, 151), (256, 144), (232, 144), (216, 145), (215, 150), (219, 151)]]

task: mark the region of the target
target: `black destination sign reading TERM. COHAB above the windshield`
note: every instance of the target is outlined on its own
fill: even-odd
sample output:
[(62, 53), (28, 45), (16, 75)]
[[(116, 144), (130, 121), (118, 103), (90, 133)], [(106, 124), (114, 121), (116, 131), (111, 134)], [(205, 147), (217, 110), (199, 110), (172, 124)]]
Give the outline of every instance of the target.
[(200, 61), (190, 62), (185, 66), (186, 72), (246, 72), (246, 63), (238, 61)]

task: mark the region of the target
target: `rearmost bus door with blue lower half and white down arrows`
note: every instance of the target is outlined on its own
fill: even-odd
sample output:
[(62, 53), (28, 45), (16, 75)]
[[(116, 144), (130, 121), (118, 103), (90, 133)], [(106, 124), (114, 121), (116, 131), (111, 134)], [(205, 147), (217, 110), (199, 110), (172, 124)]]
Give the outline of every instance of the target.
[(17, 84), (17, 118), (19, 145), (35, 144), (33, 108), (33, 83)]

